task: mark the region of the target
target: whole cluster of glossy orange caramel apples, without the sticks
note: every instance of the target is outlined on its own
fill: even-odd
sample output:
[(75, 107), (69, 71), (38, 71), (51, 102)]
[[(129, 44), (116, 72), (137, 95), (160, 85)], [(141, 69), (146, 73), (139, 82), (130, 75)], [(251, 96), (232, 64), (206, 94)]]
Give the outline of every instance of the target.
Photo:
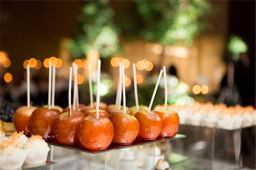
[(143, 105), (140, 109), (130, 109), (126, 114), (115, 105), (100, 103), (100, 117), (96, 118), (96, 109), (82, 104), (72, 111), (71, 117), (67, 109), (61, 113), (61, 109), (20, 107), (14, 114), (14, 125), (24, 134), (41, 135), (44, 139), (56, 137), (63, 144), (80, 142), (89, 150), (104, 150), (112, 142), (130, 145), (137, 137), (154, 140), (177, 133), (179, 117), (174, 111), (147, 113)]

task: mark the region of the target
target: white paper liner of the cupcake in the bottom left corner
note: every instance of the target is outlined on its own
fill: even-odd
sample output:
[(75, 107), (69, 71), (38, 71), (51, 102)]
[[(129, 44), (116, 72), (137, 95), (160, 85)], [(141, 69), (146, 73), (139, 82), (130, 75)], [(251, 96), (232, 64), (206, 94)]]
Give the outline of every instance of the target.
[(26, 159), (27, 152), (15, 155), (0, 155), (0, 169), (18, 169), (22, 167)]

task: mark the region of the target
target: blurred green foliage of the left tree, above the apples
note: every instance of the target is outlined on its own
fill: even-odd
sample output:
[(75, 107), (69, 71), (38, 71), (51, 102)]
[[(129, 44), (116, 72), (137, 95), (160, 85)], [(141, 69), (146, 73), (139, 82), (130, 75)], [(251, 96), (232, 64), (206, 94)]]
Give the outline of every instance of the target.
[(69, 44), (76, 57), (84, 56), (90, 49), (99, 50), (101, 57), (109, 57), (119, 47), (119, 29), (115, 25), (114, 11), (108, 0), (87, 1), (80, 14), (79, 35)]

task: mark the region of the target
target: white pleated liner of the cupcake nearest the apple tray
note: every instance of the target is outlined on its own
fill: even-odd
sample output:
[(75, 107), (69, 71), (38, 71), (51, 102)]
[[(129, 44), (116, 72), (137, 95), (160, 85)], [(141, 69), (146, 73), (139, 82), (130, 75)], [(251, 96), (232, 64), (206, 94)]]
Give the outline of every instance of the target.
[(35, 165), (46, 163), (49, 148), (47, 150), (27, 150), (25, 164)]

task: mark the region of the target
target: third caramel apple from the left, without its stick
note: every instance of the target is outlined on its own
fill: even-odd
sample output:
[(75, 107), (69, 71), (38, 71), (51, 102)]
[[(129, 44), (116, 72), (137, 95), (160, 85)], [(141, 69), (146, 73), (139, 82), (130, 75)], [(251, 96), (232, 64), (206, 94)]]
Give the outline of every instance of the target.
[(79, 143), (77, 131), (84, 118), (84, 114), (80, 111), (72, 111), (71, 117), (69, 117), (69, 112), (59, 114), (53, 129), (57, 141), (64, 144)]

